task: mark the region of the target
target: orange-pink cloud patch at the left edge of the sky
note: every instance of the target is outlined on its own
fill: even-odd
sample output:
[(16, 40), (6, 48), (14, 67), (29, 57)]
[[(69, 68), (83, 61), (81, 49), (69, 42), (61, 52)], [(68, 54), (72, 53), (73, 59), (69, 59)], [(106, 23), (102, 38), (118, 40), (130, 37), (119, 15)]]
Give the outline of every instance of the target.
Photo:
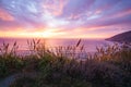
[(3, 21), (13, 21), (13, 16), (11, 16), (7, 11), (0, 9), (0, 18)]

